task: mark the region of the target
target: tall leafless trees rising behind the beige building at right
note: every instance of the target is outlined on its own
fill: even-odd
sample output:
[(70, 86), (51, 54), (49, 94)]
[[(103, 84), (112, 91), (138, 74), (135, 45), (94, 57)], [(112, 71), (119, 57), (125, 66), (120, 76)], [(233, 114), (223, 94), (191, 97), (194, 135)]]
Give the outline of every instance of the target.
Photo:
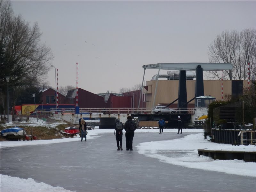
[[(226, 30), (208, 47), (209, 62), (233, 65), (233, 69), (223, 71), (224, 79), (246, 79), (248, 63), (251, 65), (250, 73), (255, 71), (255, 43), (255, 29), (247, 28), (240, 33), (236, 30)], [(220, 79), (221, 72), (211, 71), (208, 77)]]

